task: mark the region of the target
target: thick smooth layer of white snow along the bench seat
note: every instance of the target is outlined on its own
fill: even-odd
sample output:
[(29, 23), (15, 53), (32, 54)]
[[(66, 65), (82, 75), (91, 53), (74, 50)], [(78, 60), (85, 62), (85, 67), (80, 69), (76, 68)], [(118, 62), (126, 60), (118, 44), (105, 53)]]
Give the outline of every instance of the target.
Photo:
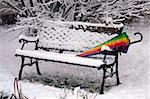
[(56, 53), (56, 52), (47, 52), (47, 51), (40, 51), (40, 50), (16, 50), (16, 55), (20, 56), (27, 56), (45, 60), (52, 60), (58, 62), (66, 62), (66, 63), (73, 63), (79, 65), (87, 65), (87, 66), (95, 66), (99, 67), (100, 65), (104, 64), (102, 59), (93, 59), (93, 58), (84, 58), (76, 56), (76, 54), (64, 54), (64, 53)]

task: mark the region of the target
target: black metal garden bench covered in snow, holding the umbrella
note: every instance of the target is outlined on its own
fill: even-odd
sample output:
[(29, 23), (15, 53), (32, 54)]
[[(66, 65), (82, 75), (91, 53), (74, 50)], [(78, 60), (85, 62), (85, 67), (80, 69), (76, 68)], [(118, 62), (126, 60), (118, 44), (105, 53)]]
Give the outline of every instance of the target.
[[(117, 85), (120, 84), (118, 76), (118, 52), (103, 50), (99, 55), (92, 57), (79, 57), (77, 54), (93, 48), (100, 43), (122, 32), (122, 24), (94, 24), (83, 22), (62, 22), (46, 20), (38, 29), (36, 37), (20, 35), (21, 49), (16, 50), (16, 56), (21, 57), (21, 79), (23, 67), (36, 64), (37, 73), (41, 75), (38, 60), (73, 64), (103, 70), (103, 80), (100, 93), (103, 94), (106, 72), (110, 69), (111, 75), (116, 74)], [(101, 41), (101, 42), (100, 42)], [(35, 49), (24, 49), (26, 43), (35, 43)], [(113, 56), (112, 59), (106, 58)], [(29, 58), (30, 63), (25, 63)], [(113, 70), (115, 66), (115, 70)]]

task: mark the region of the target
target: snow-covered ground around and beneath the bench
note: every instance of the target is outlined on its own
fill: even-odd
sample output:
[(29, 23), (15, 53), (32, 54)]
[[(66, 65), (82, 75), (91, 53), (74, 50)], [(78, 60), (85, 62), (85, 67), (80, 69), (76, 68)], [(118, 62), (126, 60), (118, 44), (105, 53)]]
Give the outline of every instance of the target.
[[(17, 39), (14, 39), (18, 33), (11, 32), (4, 35), (6, 27), (0, 27), (0, 92), (4, 91), (6, 93), (13, 92), (13, 81), (18, 75), (18, 70), (20, 68), (19, 57), (14, 56), (15, 50), (19, 46)], [(139, 25), (134, 24), (133, 26), (126, 26), (124, 31), (128, 32), (131, 40), (138, 39), (138, 36), (134, 36), (134, 32), (141, 32), (144, 39), (141, 43), (134, 44), (130, 46), (127, 55), (121, 55), (119, 58), (119, 73), (122, 84), (119, 86), (112, 87), (109, 91), (105, 92), (104, 95), (97, 95), (96, 99), (149, 99), (150, 96), (148, 88), (148, 79), (150, 80), (150, 70), (148, 66), (150, 65), (149, 51), (150, 51), (150, 39), (149, 25)], [(42, 63), (44, 65), (45, 63)], [(72, 74), (76, 76), (84, 77), (93, 76), (97, 77), (98, 72), (91, 69), (81, 69), (79, 67), (72, 67), (72, 69), (66, 69), (67, 66), (62, 65), (60, 68), (55, 63), (48, 63), (52, 66), (41, 66), (42, 73), (58, 73), (63, 70), (65, 73), (71, 71)], [(56, 65), (56, 66), (54, 66)], [(35, 69), (27, 68), (26, 73), (34, 73)], [(52, 68), (52, 69), (51, 69)], [(78, 73), (76, 73), (78, 72)], [(96, 73), (95, 73), (96, 72)], [(60, 99), (64, 96), (64, 89), (55, 88), (51, 86), (45, 86), (41, 83), (29, 81), (21, 81), (23, 94), (33, 99)], [(67, 99), (76, 99), (71, 95), (71, 90), (67, 90)], [(74, 98), (73, 98), (74, 97)], [(92, 99), (92, 98), (89, 98)]]

